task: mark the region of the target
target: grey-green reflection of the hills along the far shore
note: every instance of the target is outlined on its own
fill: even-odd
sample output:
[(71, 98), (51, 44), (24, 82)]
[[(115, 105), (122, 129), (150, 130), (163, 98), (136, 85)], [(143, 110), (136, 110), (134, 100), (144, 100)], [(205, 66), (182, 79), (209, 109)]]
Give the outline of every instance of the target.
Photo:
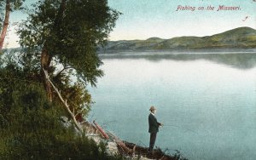
[(256, 66), (256, 52), (204, 52), (204, 53), (173, 53), (173, 52), (122, 52), (115, 54), (100, 54), (102, 59), (145, 59), (160, 60), (209, 60), (237, 69), (247, 70)]

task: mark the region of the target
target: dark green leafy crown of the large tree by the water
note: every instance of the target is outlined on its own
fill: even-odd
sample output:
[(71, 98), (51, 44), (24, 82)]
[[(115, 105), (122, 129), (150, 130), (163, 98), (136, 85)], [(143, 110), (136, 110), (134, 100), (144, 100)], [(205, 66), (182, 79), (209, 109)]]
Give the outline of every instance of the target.
[(56, 63), (72, 67), (80, 80), (96, 85), (96, 77), (102, 77), (96, 47), (106, 43), (118, 16), (107, 0), (39, 1), (20, 24), (20, 45), (46, 49)]

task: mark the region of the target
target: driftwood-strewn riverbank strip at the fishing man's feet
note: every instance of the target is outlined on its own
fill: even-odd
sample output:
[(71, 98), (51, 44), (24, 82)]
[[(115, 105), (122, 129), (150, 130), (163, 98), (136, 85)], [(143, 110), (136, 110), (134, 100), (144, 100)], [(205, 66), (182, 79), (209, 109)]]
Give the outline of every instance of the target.
[(84, 122), (81, 123), (83, 128), (86, 131), (86, 135), (95, 140), (97, 144), (101, 142), (107, 145), (107, 153), (109, 156), (121, 155), (129, 159), (142, 159), (142, 160), (151, 160), (151, 159), (161, 159), (161, 160), (185, 160), (186, 158), (182, 157), (179, 152), (174, 155), (168, 155), (165, 151), (162, 151), (160, 148), (154, 149), (154, 151), (148, 152), (147, 147), (137, 146), (131, 142), (120, 140), (119, 137), (104, 131), (97, 123)]

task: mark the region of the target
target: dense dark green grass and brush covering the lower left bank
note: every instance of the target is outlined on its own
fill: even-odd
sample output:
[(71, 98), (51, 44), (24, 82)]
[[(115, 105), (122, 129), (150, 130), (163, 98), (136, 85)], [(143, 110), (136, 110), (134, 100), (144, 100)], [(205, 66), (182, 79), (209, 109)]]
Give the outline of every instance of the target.
[(24, 79), (22, 67), (6, 63), (0, 77), (0, 159), (118, 159), (64, 127), (61, 106), (49, 103), (41, 83)]

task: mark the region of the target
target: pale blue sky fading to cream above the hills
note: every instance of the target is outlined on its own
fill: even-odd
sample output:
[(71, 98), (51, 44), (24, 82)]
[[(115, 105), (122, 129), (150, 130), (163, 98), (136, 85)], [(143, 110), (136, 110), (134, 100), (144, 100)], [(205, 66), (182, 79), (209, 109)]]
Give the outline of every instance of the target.
[[(25, 5), (30, 6), (34, 2), (37, 0), (26, 0)], [(241, 26), (256, 29), (255, 0), (108, 0), (108, 5), (122, 13), (110, 33), (109, 40), (112, 41), (202, 37)], [(218, 11), (220, 5), (239, 9)], [(214, 9), (207, 9), (208, 6)], [(24, 19), (26, 14), (21, 12), (10, 16), (11, 22)], [(18, 47), (18, 40), (15, 26), (10, 26), (5, 47)]]

